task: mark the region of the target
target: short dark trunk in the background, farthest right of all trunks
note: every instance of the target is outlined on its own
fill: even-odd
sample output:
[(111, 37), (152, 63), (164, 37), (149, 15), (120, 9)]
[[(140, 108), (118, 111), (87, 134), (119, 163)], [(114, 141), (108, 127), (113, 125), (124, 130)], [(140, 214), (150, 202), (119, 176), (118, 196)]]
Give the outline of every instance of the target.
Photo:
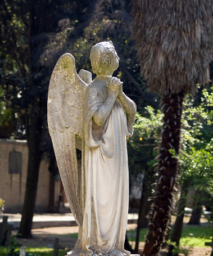
[(189, 225), (200, 225), (200, 219), (202, 214), (202, 192), (197, 191), (195, 195), (192, 215), (189, 221)]

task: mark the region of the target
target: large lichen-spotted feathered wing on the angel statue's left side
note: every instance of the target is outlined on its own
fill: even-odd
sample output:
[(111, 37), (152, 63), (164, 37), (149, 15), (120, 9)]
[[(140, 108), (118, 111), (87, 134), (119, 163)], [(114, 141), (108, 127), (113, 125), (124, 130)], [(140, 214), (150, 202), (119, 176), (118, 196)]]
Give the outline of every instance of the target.
[(78, 198), (76, 136), (82, 135), (83, 96), (87, 84), (76, 73), (75, 59), (65, 53), (57, 61), (49, 83), (48, 128), (58, 169), (75, 221), (82, 226)]

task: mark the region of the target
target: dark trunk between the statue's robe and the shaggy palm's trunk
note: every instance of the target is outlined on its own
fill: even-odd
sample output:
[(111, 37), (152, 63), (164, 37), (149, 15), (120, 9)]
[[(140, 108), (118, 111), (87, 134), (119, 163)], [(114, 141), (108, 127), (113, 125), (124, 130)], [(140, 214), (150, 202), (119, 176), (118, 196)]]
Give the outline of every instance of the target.
[(148, 224), (146, 215), (148, 214), (148, 211), (149, 211), (149, 208), (151, 205), (151, 202), (148, 201), (148, 197), (150, 197), (150, 196), (151, 196), (151, 191), (148, 191), (147, 178), (144, 177), (141, 200), (140, 200), (139, 211), (138, 211), (137, 235), (136, 235), (136, 239), (135, 239), (135, 251), (137, 253), (139, 250), (141, 228), (147, 227), (147, 224)]

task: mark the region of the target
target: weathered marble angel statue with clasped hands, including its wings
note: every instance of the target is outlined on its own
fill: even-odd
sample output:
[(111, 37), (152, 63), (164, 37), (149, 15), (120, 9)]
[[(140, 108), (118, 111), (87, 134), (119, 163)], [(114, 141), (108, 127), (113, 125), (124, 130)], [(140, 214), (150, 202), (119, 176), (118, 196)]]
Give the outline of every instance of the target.
[[(119, 57), (111, 41), (97, 43), (90, 60), (96, 78), (65, 53), (53, 70), (48, 93), (48, 128), (70, 209), (79, 226), (68, 255), (130, 255), (124, 249), (128, 217), (126, 137), (133, 133), (136, 106), (112, 77)], [(82, 79), (81, 79), (81, 78)], [(76, 138), (82, 139), (78, 197)], [(77, 141), (78, 141), (77, 140)]]

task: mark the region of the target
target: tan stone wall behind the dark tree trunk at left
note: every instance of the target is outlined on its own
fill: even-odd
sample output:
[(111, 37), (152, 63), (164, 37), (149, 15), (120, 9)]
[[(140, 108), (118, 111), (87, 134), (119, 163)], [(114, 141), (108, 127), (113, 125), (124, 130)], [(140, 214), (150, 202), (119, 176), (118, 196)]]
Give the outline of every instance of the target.
[[(21, 154), (17, 154), (17, 152)], [(24, 203), (27, 165), (28, 146), (26, 141), (0, 140), (0, 198), (5, 200), (4, 213), (21, 213)], [(20, 166), (21, 168), (19, 168)], [(48, 163), (42, 161), (39, 170), (35, 212), (48, 212), (49, 177)]]

